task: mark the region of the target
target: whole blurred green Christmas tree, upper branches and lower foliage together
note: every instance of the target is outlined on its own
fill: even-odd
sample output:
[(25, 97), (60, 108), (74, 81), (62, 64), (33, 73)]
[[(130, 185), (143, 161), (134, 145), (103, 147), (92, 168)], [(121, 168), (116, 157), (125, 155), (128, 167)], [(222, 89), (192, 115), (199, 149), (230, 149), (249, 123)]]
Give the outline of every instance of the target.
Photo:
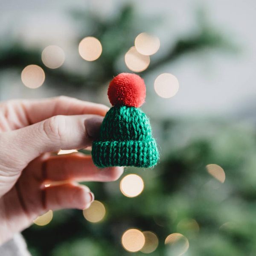
[[(141, 22), (132, 6), (125, 6), (109, 20), (80, 11), (73, 12), (73, 16), (81, 24), (91, 24), (90, 36), (99, 39), (104, 51), (93, 62), (90, 74), (46, 68), (47, 84), (67, 91), (82, 89), (95, 95), (118, 73), (118, 61), (134, 44), (134, 38), (156, 22), (151, 18)], [(188, 52), (232, 48), (202, 17), (199, 15), (199, 29), (194, 35), (177, 38), (164, 56), (151, 61), (142, 75)], [(77, 43), (85, 36), (88, 34), (81, 32)], [(20, 44), (2, 45), (0, 70), (21, 71), (29, 64), (41, 65), (40, 49), (31, 50)], [(120, 192), (120, 181), (88, 184), (105, 206), (103, 220), (87, 221), (77, 210), (55, 212), (47, 226), (33, 225), (23, 232), (33, 255), (129, 255), (121, 237), (131, 228), (157, 235), (159, 244), (151, 253), (155, 256), (180, 255), (186, 251), (186, 255), (192, 256), (254, 255), (256, 207), (252, 203), (256, 199), (253, 172), (256, 143), (253, 129), (219, 121), (151, 121), (158, 127), (155, 137), (162, 151), (160, 163), (154, 170), (129, 168), (123, 175), (127, 172), (140, 175), (145, 184), (142, 194), (126, 197)], [(206, 166), (212, 163), (221, 166), (225, 173), (219, 166), (208, 166), (208, 172), (215, 178), (209, 175)], [(169, 236), (175, 233), (183, 236)], [(154, 247), (147, 242), (142, 249), (144, 253), (151, 250), (150, 246)]]

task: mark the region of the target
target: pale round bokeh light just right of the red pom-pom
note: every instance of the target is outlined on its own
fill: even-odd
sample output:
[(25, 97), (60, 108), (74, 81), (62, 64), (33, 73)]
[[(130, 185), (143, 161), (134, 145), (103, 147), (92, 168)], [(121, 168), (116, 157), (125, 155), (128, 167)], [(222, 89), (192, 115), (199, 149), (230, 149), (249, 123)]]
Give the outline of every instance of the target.
[(154, 81), (154, 90), (162, 98), (171, 98), (179, 90), (179, 81), (174, 75), (163, 73)]

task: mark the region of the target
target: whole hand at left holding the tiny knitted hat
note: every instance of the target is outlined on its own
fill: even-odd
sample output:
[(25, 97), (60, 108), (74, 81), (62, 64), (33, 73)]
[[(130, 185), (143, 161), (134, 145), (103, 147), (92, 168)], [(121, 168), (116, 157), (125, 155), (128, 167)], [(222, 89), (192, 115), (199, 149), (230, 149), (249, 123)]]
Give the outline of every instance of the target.
[(93, 193), (76, 181), (120, 177), (121, 167), (98, 169), (81, 153), (47, 153), (90, 146), (107, 111), (64, 96), (0, 104), (0, 244), (49, 209), (89, 207)]

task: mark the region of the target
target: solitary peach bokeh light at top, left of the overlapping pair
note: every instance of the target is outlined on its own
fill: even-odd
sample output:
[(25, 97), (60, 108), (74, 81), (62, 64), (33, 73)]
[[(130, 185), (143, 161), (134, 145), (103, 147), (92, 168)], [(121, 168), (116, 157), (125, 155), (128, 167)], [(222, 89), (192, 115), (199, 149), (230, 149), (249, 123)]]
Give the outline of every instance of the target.
[(102, 45), (97, 38), (89, 36), (81, 40), (78, 50), (86, 61), (95, 61), (102, 54)]

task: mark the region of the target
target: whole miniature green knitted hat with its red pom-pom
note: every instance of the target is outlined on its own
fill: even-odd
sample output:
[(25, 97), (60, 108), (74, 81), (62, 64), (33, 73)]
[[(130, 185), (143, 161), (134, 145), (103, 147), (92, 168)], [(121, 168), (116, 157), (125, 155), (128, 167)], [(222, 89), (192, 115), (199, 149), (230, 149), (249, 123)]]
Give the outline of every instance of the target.
[(148, 117), (140, 110), (145, 101), (143, 79), (121, 73), (109, 84), (108, 98), (113, 107), (107, 112), (99, 139), (93, 142), (93, 162), (98, 167), (152, 167), (159, 153)]

